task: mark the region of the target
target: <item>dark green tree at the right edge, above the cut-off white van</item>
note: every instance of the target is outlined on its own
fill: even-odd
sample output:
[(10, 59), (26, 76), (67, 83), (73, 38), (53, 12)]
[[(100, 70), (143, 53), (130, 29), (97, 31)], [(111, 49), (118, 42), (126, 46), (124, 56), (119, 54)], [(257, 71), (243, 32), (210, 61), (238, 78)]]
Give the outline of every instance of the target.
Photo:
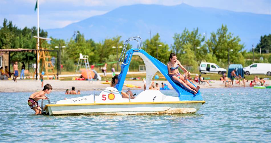
[(267, 50), (271, 50), (271, 34), (261, 36), (260, 43), (257, 44), (255, 51), (260, 53), (260, 48), (262, 48), (261, 53), (267, 53)]

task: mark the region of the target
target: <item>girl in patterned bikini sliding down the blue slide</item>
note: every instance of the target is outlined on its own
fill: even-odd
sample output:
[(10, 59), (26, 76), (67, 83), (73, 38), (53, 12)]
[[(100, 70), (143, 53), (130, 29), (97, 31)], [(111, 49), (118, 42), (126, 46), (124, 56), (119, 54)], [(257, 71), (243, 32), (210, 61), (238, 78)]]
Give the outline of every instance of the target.
[(171, 76), (171, 79), (174, 82), (177, 82), (181, 85), (183, 85), (188, 90), (194, 92), (194, 94), (197, 94), (199, 91), (199, 86), (195, 87), (193, 84), (191, 84), (183, 75), (179, 73), (178, 67), (181, 67), (181, 69), (186, 72), (188, 75), (190, 75), (190, 72), (188, 72), (180, 63), (179, 60), (177, 60), (177, 56), (175, 53), (171, 53), (169, 55), (169, 62), (167, 63), (167, 71), (168, 74)]

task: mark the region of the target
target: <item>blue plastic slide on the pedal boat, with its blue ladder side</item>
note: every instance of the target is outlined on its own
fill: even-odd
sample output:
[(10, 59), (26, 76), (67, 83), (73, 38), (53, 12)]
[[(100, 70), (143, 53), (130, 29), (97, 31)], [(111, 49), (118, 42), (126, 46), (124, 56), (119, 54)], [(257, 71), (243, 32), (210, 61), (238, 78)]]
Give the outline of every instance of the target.
[(197, 94), (194, 95), (193, 92), (187, 90), (185, 87), (183, 87), (179, 83), (173, 82), (173, 80), (171, 79), (171, 76), (169, 76), (169, 74), (167, 72), (167, 65), (165, 65), (161, 61), (157, 60), (156, 58), (152, 57), (151, 55), (149, 55), (147, 52), (145, 52), (142, 49), (140, 49), (139, 51), (136, 51), (136, 50), (138, 50), (138, 49), (130, 49), (126, 52), (124, 62), (121, 65), (121, 72), (118, 75), (118, 84), (116, 85), (116, 87), (119, 91), (122, 90), (133, 53), (139, 52), (139, 53), (142, 53), (143, 55), (145, 55), (153, 63), (153, 65), (155, 65), (157, 67), (157, 69), (161, 72), (161, 74), (163, 74), (163, 76), (165, 76), (165, 78), (167, 79), (169, 84), (171, 84), (171, 86), (178, 93), (179, 101), (199, 101), (199, 100), (201, 101), (201, 100), (203, 100), (200, 90), (198, 91)]

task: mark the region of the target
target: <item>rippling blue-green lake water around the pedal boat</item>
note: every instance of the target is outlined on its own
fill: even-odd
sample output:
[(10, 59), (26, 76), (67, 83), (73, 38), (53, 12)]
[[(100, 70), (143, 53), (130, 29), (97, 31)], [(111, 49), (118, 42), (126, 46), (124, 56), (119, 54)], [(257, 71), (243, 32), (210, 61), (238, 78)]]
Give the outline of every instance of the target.
[[(174, 90), (162, 92), (177, 96)], [(271, 141), (270, 89), (202, 89), (201, 93), (206, 103), (196, 114), (121, 116), (35, 115), (27, 105), (31, 93), (0, 93), (0, 142)], [(52, 91), (48, 97), (53, 102), (78, 95)]]

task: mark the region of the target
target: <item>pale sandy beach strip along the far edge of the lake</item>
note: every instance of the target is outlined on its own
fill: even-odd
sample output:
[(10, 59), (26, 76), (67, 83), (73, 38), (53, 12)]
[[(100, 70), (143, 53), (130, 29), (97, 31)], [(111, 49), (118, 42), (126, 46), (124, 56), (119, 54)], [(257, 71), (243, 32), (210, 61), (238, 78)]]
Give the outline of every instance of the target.
[[(266, 80), (266, 84), (270, 85), (271, 80)], [(94, 90), (95, 88), (106, 88), (109, 86), (109, 84), (102, 84), (102, 82), (105, 81), (61, 81), (61, 80), (44, 80), (44, 85), (46, 83), (51, 84), (53, 87), (53, 91), (63, 91), (65, 92), (66, 89), (72, 88), (72, 86), (75, 87), (75, 90), (80, 91), (90, 91)], [(159, 83), (159, 86), (161, 87), (161, 83), (167, 83), (169, 85), (170, 89), (173, 89), (172, 86), (167, 81), (156, 81)], [(124, 82), (125, 84), (132, 84), (135, 86), (141, 86), (141, 88), (130, 88), (124, 86), (123, 89), (142, 89), (143, 90), (143, 81), (140, 80), (127, 80)], [(246, 87), (249, 87), (249, 82), (246, 82)], [(201, 88), (226, 88), (224, 84), (222, 84), (222, 81), (219, 80), (213, 80), (212, 83), (210, 83), (212, 86), (209, 86), (207, 83), (199, 85)], [(198, 85), (198, 84), (196, 84)], [(233, 84), (233, 87), (242, 87), (238, 84)], [(17, 80), (17, 83), (13, 80), (0, 80), (0, 92), (36, 92), (37, 90), (42, 90), (41, 87), (41, 81), (40, 80)]]

